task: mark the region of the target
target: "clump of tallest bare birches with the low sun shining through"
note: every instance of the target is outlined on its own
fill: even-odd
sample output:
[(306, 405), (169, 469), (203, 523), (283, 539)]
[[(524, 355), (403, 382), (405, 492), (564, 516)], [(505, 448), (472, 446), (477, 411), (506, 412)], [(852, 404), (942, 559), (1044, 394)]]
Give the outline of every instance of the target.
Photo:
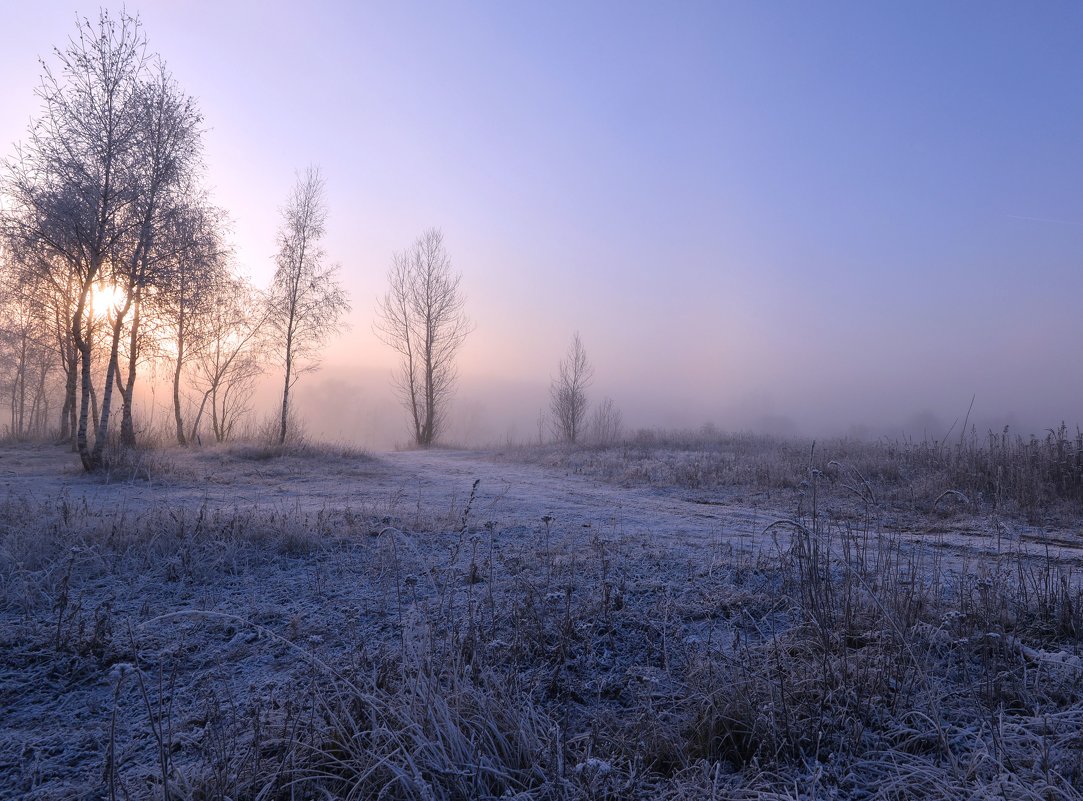
[[(57, 325), (68, 326), (77, 354), (70, 366), (65, 363), (65, 408), (73, 405), (78, 369), (76, 448), (83, 467), (94, 470), (108, 439), (114, 384), (123, 400), (121, 438), (134, 444), (141, 307), (148, 292), (164, 289), (159, 267), (183, 246), (164, 233), (194, 191), (200, 117), (158, 57), (147, 54), (138, 17), (121, 12), (113, 18), (103, 11), (96, 25), (81, 19), (56, 56), (58, 69), (45, 66), (38, 89), (42, 114), (8, 162), (2, 188), (13, 210), (5, 228), (6, 238), (36, 254), (27, 263), (44, 273), (55, 297), (70, 304), (55, 314)], [(103, 290), (118, 298), (97, 315), (104, 338), (92, 326), (93, 294)], [(108, 354), (100, 411), (92, 380), (102, 363), (95, 340), (104, 340)], [(120, 364), (126, 340), (127, 378)]]

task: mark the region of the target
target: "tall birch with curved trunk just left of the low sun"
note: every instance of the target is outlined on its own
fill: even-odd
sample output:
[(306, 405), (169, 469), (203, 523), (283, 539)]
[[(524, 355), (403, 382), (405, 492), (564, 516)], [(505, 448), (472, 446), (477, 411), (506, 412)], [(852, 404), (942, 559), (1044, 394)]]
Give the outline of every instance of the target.
[(9, 162), (3, 186), (12, 199), (12, 226), (39, 250), (37, 263), (63, 263), (75, 276), (71, 339), (82, 379), (76, 445), (87, 470), (100, 460), (87, 437), (93, 360), (89, 306), (92, 288), (130, 234), (145, 51), (139, 21), (127, 14), (115, 21), (103, 11), (96, 26), (80, 21), (77, 36), (56, 51), (58, 74), (44, 69), (37, 90), (42, 114)]

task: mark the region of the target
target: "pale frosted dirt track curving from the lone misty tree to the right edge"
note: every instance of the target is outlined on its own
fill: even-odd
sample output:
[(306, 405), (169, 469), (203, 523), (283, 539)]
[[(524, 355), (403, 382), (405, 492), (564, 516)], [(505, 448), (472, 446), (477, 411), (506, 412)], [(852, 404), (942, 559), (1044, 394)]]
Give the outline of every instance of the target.
[[(407, 451), (382, 457), (393, 473), (421, 493), (422, 504), (441, 498), (462, 498), (473, 480), (480, 480), (478, 502), (485, 520), (534, 524), (543, 515), (574, 527), (603, 527), (606, 533), (650, 537), (667, 547), (705, 543), (733, 550), (774, 546), (772, 523), (792, 520), (795, 498), (775, 496), (773, 502), (752, 503), (747, 493), (736, 489), (692, 491), (678, 488), (619, 487), (589, 476), (536, 464), (500, 461), (491, 454), (473, 451)], [(457, 494), (457, 495), (456, 495)], [(825, 494), (826, 495), (826, 494)], [(845, 499), (844, 499), (845, 500)], [(839, 505), (823, 499), (827, 516), (839, 516)], [(852, 504), (849, 515), (856, 528), (864, 525)], [(924, 514), (874, 510), (873, 534), (898, 536), (914, 544), (932, 546), (944, 566), (969, 570), (975, 562), (1006, 553), (1025, 552), (1035, 560), (1083, 567), (1083, 522), (1074, 528), (1043, 528), (1019, 521), (958, 515), (931, 517)], [(783, 542), (786, 529), (778, 530)], [(975, 562), (971, 562), (975, 561)]]

